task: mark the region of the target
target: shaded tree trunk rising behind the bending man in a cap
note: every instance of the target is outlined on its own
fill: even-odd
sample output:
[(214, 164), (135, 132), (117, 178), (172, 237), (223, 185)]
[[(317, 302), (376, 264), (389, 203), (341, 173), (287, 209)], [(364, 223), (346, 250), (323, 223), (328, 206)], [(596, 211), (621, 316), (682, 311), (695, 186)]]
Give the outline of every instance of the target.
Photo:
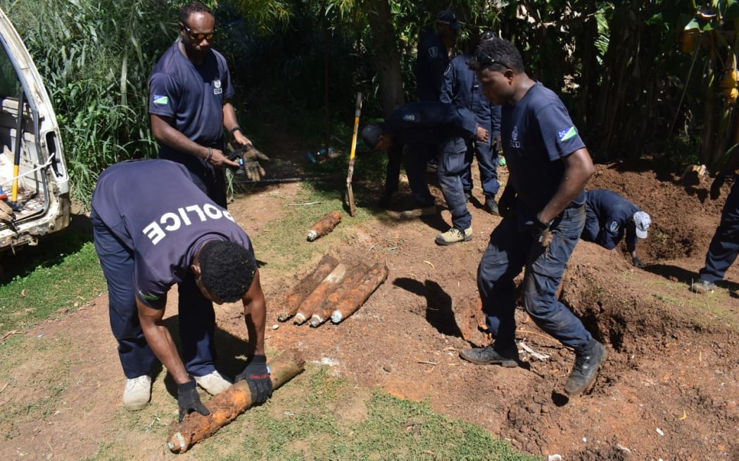
[(395, 30), (392, 28), (392, 15), (388, 1), (365, 0), (364, 6), (375, 46), (380, 103), (383, 114), (387, 118), (392, 111), (405, 103), (401, 55), (395, 44)]

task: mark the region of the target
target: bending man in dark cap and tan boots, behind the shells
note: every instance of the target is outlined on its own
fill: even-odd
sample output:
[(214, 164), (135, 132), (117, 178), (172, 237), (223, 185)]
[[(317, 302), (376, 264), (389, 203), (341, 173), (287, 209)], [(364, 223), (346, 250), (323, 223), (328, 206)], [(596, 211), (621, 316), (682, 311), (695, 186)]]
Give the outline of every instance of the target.
[(362, 139), (369, 149), (387, 149), (388, 162), (385, 193), (381, 207), (388, 207), (392, 193), (398, 190), (403, 145), (408, 182), (421, 214), (436, 212), (434, 197), (426, 183), (426, 164), (439, 157), (439, 186), (452, 214), (452, 228), (436, 238), (439, 245), (472, 239), (472, 215), (462, 185), (462, 175), (469, 167), (467, 143), (487, 141), (488, 131), (477, 124), (469, 109), (452, 104), (423, 101), (396, 109), (385, 122), (371, 122), (362, 129)]

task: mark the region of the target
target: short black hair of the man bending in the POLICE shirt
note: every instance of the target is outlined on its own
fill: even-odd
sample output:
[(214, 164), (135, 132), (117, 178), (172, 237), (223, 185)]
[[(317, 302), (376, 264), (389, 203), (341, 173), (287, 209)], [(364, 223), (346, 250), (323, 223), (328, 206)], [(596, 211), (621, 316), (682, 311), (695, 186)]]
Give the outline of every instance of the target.
[(256, 274), (253, 249), (226, 240), (210, 240), (198, 256), (200, 280), (223, 302), (234, 302), (249, 291)]

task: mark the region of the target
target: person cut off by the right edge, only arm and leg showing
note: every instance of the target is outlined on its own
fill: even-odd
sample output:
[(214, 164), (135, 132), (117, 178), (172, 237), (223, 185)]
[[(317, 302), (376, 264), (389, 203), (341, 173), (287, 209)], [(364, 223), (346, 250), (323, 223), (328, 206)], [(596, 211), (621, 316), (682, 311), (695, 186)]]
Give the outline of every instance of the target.
[[(709, 197), (716, 200), (721, 196), (721, 186), (726, 178), (739, 169), (739, 151), (735, 150), (711, 183)], [(721, 210), (721, 222), (711, 238), (706, 252), (706, 264), (698, 271), (698, 280), (690, 285), (694, 293), (712, 293), (716, 282), (723, 280), (726, 270), (732, 266), (739, 254), (739, 181), (734, 180), (726, 202)]]

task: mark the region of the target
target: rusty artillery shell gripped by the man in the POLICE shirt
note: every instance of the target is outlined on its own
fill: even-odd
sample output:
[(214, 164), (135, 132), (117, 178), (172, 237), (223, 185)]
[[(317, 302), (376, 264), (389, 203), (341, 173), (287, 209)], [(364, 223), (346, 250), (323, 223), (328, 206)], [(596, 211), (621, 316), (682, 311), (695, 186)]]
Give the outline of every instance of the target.
[[(276, 390), (299, 375), (305, 369), (305, 362), (296, 350), (287, 350), (270, 359), (268, 366), (272, 387)], [(185, 415), (181, 423), (173, 423), (174, 429), (167, 438), (167, 447), (172, 453), (184, 453), (195, 443), (210, 437), (252, 406), (253, 400), (246, 381), (239, 381), (203, 404), (211, 412), (210, 415), (192, 412)]]

